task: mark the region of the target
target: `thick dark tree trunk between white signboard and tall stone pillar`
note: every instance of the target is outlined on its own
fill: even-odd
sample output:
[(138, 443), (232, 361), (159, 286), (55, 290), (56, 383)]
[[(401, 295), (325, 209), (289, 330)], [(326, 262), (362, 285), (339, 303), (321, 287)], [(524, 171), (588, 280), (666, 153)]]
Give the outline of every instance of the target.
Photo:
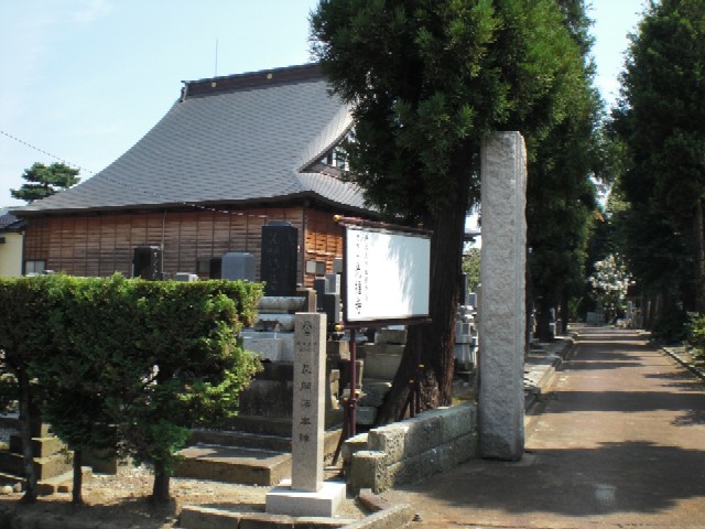
[[(424, 228), (431, 239), (431, 323), (409, 327), (401, 365), (378, 413), (377, 424), (402, 419), (421, 358), (421, 410), (448, 406), (455, 370), (455, 316), (462, 274), (463, 236), (471, 172), (471, 149), (466, 145), (452, 158), (456, 187), (448, 190), (448, 204), (431, 215)], [(420, 336), (419, 336), (419, 334)], [(422, 350), (419, 352), (417, 348)]]

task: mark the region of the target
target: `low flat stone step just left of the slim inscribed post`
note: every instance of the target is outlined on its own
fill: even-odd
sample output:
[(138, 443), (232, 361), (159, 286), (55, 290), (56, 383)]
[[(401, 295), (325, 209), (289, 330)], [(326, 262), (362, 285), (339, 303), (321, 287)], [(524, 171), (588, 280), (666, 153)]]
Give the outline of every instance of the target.
[(174, 476), (245, 485), (278, 485), (291, 477), (291, 454), (237, 446), (196, 445), (178, 452)]

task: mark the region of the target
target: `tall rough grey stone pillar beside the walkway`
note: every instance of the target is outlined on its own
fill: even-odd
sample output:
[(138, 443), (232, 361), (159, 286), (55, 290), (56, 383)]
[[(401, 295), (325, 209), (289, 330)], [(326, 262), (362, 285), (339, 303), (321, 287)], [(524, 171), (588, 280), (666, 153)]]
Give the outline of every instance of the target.
[(481, 164), (480, 454), (518, 461), (524, 450), (527, 325), (527, 151), (521, 134), (488, 136)]

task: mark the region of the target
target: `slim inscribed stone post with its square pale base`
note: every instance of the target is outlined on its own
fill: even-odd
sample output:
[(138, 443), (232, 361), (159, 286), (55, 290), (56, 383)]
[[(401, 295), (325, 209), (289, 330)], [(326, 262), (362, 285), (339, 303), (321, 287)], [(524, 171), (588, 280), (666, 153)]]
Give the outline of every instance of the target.
[(323, 481), (325, 424), (326, 316), (297, 313), (294, 324), (292, 478), (265, 498), (267, 512), (290, 516), (335, 515), (345, 483)]

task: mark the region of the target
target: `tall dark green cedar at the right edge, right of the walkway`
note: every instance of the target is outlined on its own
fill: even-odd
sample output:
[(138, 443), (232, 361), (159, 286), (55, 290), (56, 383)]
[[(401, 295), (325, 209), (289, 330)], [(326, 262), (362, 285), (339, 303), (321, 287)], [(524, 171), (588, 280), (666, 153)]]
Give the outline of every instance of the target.
[[(641, 268), (649, 270), (640, 279), (647, 291), (661, 290), (672, 306), (677, 288), (686, 293), (686, 309), (705, 313), (705, 1), (651, 2), (631, 35), (621, 82), (612, 114), (629, 155), (621, 188), (632, 206), (632, 233), (670, 241), (675, 253), (666, 262), (682, 260), (683, 242), (692, 256), (687, 276), (670, 274), (670, 284), (658, 272), (664, 260), (647, 256)], [(639, 248), (630, 245), (629, 251), (632, 263), (639, 261)]]

